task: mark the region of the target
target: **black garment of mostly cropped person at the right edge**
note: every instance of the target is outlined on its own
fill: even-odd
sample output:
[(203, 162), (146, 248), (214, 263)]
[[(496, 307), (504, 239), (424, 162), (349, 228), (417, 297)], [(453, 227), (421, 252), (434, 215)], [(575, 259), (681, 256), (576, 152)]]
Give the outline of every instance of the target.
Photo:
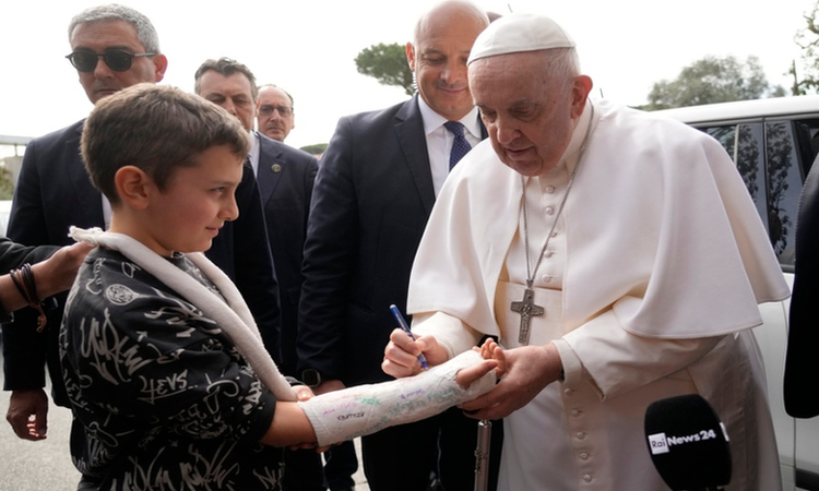
[(819, 157), (805, 180), (796, 221), (794, 289), (785, 357), (785, 410), (795, 418), (819, 415), (819, 398), (812, 391), (819, 378)]

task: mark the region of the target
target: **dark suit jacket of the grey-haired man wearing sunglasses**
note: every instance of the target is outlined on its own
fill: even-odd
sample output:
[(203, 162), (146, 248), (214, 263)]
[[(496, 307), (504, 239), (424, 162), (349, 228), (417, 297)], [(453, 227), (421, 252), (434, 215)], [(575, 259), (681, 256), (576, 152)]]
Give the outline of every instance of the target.
[[(69, 226), (104, 227), (103, 204), (80, 156), (83, 121), (26, 145), (14, 191), (8, 236), (29, 246), (73, 243)], [(236, 191), (239, 218), (226, 224), (214, 239), (207, 256), (236, 282), (260, 330), (277, 330), (280, 321), (273, 260), (268, 247), (259, 189), (247, 166)], [(31, 320), (15, 314), (3, 327), (5, 390), (38, 388), (45, 385), (46, 359), (55, 390), (55, 402), (64, 404), (59, 372), (57, 335), (62, 320), (60, 308), (48, 312), (46, 332), (25, 328)]]

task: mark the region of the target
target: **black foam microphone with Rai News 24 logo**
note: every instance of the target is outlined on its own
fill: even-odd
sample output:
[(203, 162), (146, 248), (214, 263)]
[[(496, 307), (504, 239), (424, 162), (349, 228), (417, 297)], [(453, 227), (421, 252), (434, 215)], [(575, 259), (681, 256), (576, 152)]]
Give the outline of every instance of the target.
[(652, 403), (645, 436), (654, 467), (673, 491), (717, 490), (731, 482), (728, 434), (700, 395)]

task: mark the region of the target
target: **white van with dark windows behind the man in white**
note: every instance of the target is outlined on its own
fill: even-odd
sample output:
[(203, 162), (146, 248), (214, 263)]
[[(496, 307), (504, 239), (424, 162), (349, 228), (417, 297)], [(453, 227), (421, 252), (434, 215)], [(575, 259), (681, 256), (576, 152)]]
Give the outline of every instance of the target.
[[(799, 193), (819, 153), (819, 96), (712, 104), (657, 113), (709, 133), (734, 157), (785, 279), (793, 287)], [(790, 301), (762, 306), (764, 324), (755, 334), (768, 374), (784, 489), (819, 491), (819, 417), (794, 419), (785, 412), (783, 402), (788, 310)]]

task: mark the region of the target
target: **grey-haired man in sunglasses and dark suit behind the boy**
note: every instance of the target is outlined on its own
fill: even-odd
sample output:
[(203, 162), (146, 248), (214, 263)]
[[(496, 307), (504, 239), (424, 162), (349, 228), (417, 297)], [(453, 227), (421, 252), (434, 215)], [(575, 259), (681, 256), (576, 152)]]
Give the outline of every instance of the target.
[[(80, 83), (96, 103), (124, 87), (159, 82), (167, 59), (159, 51), (151, 21), (122, 5), (91, 8), (69, 26), (72, 53)], [(71, 243), (69, 226), (106, 227), (110, 207), (94, 189), (80, 157), (83, 121), (33, 140), (23, 157), (9, 217), (8, 235), (22, 243)], [(262, 332), (277, 331), (280, 312), (273, 261), (264, 230), (259, 189), (252, 170), (246, 169), (236, 191), (239, 218), (226, 224), (207, 251), (209, 258), (237, 284)], [(63, 296), (64, 300), (64, 296)], [(67, 405), (57, 354), (60, 308), (48, 313), (44, 333), (25, 328), (15, 320), (3, 328), (5, 390), (12, 391), (8, 420), (21, 438), (38, 440), (44, 433), (27, 430), (28, 418), (45, 432), (48, 398), (44, 367), (51, 375), (55, 403)]]

